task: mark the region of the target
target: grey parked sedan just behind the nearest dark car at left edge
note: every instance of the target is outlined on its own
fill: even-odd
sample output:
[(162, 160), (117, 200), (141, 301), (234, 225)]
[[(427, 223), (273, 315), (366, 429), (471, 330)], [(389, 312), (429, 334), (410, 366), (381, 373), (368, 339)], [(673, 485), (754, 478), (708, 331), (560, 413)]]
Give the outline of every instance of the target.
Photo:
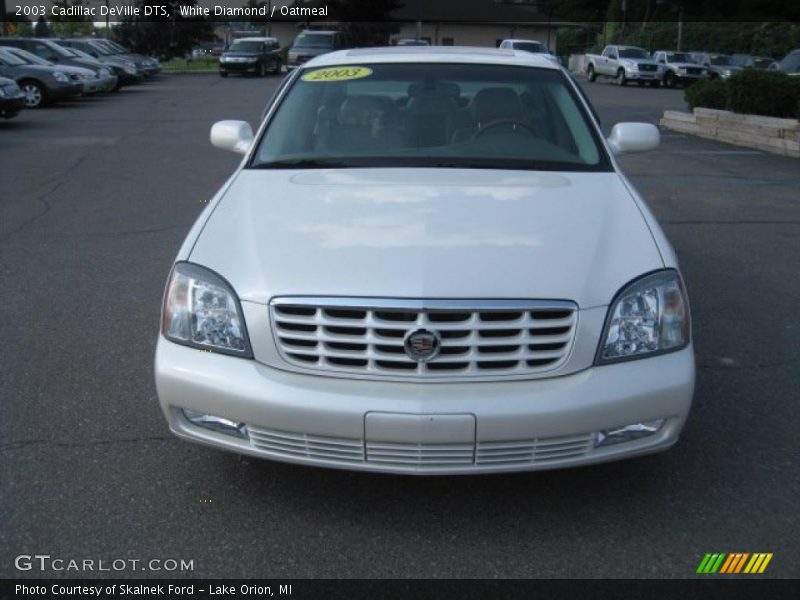
[(25, 93), (25, 106), (39, 108), (83, 94), (83, 84), (58, 66), (29, 65), (0, 48), (0, 76), (17, 82)]

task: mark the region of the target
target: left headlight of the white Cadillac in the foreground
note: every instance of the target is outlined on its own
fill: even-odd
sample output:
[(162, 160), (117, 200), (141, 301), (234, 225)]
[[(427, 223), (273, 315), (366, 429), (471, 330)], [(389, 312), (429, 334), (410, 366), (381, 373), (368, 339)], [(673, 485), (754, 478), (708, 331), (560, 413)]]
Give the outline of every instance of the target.
[(253, 356), (236, 293), (222, 277), (192, 263), (179, 262), (172, 269), (161, 333), (178, 344)]

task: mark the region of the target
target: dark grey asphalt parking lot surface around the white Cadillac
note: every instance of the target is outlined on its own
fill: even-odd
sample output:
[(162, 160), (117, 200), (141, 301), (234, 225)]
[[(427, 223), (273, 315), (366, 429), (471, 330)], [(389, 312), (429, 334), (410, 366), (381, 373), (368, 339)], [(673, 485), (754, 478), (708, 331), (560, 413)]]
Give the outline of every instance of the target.
[[(164, 281), (237, 164), (211, 124), (255, 124), (277, 81), (162, 76), (0, 122), (0, 576), (58, 575), (14, 568), (39, 553), (193, 560), (202, 577), (691, 577), (707, 552), (772, 552), (766, 575), (800, 575), (800, 163), (746, 148), (664, 132), (621, 160), (692, 301), (695, 405), (669, 452), (410, 478), (174, 439), (152, 374)], [(684, 107), (584, 87), (606, 128)]]

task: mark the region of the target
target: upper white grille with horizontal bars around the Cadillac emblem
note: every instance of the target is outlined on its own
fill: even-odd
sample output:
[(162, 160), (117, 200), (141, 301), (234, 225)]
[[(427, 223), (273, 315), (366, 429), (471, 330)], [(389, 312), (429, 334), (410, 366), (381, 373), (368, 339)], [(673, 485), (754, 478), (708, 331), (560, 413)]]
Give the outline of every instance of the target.
[[(283, 359), (300, 370), (388, 378), (506, 378), (549, 372), (567, 358), (577, 305), (568, 301), (277, 298), (272, 327)], [(438, 340), (412, 358), (409, 336)]]

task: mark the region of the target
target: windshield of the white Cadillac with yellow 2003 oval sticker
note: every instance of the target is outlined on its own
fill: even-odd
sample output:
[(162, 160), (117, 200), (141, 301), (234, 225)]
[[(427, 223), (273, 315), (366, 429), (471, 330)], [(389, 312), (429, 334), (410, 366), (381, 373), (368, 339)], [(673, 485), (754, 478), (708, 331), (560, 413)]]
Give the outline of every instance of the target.
[(408, 63), (304, 70), (251, 166), (609, 169), (559, 71)]

